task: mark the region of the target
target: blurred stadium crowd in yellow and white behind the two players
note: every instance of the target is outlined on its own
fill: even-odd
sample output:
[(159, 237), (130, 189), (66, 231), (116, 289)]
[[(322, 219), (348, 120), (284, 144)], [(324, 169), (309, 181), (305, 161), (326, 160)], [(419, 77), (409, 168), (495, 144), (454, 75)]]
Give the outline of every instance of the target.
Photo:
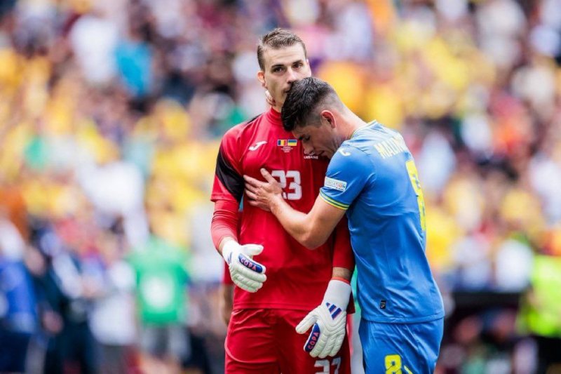
[(273, 27), (416, 158), (437, 372), (561, 373), (561, 0), (1, 0), (0, 370), (222, 372), (210, 189)]

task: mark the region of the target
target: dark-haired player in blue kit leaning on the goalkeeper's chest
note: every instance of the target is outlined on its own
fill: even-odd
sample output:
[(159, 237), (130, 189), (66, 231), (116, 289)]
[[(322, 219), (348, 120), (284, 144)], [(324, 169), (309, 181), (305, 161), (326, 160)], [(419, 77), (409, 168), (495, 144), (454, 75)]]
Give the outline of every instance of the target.
[(307, 248), (323, 243), (346, 213), (366, 373), (433, 373), (444, 309), (425, 255), (423, 192), (403, 137), (365, 123), (316, 78), (292, 84), (282, 119), (302, 142), (303, 156), (331, 159), (325, 184), (306, 214), (285, 203), (262, 169), (265, 182), (245, 178), (250, 203), (270, 210)]

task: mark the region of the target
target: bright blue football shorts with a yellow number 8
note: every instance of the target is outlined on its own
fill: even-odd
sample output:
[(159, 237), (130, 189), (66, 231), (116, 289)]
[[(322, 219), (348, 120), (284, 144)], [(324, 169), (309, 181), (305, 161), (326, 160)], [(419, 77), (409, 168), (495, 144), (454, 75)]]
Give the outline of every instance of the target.
[(365, 373), (433, 374), (444, 320), (378, 323), (360, 320)]

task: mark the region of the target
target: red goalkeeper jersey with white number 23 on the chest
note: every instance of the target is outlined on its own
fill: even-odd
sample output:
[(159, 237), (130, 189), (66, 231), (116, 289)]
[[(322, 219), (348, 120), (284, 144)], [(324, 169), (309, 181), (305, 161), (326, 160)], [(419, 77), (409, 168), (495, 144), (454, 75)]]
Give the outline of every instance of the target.
[(243, 195), (243, 175), (264, 180), (266, 168), (292, 208), (309, 212), (323, 186), (328, 161), (305, 155), (302, 145), (284, 130), (274, 109), (231, 128), (222, 139), (217, 158), (212, 201), (243, 201), (238, 242), (262, 244), (255, 256), (266, 267), (267, 280), (257, 293), (234, 290), (234, 308), (309, 310), (323, 299), (332, 267), (353, 269), (346, 222), (323, 246), (311, 251), (290, 236), (272, 213), (250, 206)]

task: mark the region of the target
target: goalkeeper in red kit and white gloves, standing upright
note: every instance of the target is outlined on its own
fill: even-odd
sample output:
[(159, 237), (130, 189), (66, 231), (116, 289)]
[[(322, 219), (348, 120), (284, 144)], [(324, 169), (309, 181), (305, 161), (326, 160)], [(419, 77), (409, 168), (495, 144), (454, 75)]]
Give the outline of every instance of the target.
[(323, 246), (307, 251), (274, 215), (243, 204), (243, 175), (262, 178), (259, 170), (266, 168), (290, 206), (307, 212), (328, 163), (305, 155), (280, 121), (292, 83), (311, 76), (302, 39), (274, 29), (260, 39), (257, 60), (257, 79), (271, 94), (273, 107), (224, 135), (211, 196), (212, 240), (236, 285), (225, 371), (351, 373), (345, 332), (354, 258), (346, 222)]

